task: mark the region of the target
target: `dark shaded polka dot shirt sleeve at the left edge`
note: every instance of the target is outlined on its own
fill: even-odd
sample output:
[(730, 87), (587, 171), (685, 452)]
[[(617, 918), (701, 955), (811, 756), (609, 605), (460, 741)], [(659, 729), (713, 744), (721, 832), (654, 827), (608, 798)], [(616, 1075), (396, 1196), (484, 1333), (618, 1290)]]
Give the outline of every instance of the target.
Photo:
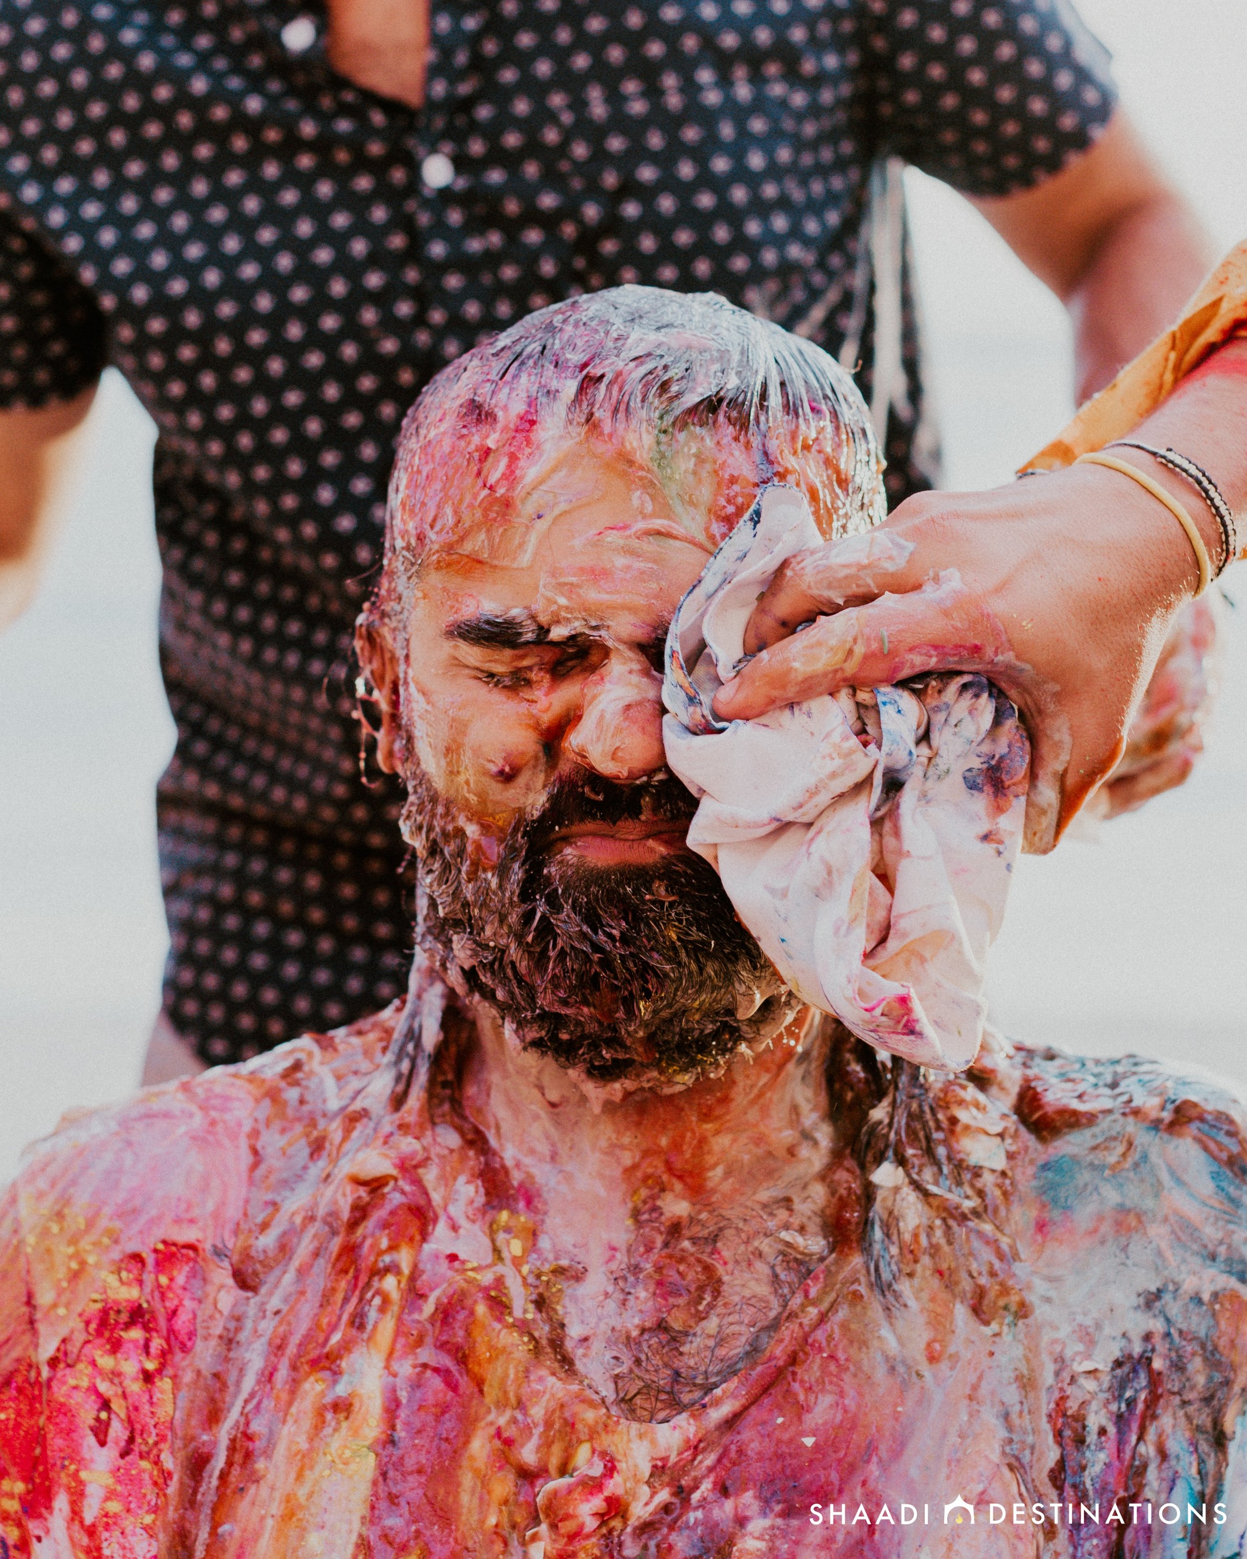
[(0, 410), (70, 401), (106, 362), (100, 306), (62, 259), (0, 210)]

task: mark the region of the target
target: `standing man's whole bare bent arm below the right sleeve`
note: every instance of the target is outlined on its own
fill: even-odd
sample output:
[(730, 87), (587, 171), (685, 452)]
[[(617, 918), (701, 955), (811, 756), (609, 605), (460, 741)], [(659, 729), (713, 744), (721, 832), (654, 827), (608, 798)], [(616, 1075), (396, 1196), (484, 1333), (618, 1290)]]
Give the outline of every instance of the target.
[(1054, 178), (973, 204), (1069, 310), (1079, 404), (1172, 324), (1214, 259), (1121, 109)]

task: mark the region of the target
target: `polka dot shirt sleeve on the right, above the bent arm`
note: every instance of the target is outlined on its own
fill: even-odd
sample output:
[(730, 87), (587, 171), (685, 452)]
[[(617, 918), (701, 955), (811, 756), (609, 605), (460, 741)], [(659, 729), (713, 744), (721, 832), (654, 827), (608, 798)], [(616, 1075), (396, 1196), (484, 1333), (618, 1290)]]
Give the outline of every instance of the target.
[(1068, 0), (871, 0), (876, 150), (966, 195), (1012, 195), (1086, 151), (1116, 104)]

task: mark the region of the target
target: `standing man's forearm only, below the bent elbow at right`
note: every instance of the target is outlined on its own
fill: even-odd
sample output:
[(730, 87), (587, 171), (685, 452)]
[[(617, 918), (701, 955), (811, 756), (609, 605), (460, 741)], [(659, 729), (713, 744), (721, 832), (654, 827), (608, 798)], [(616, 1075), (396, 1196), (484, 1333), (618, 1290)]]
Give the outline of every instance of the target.
[(1079, 405), (1182, 315), (1213, 259), (1177, 193), (1157, 190), (1116, 217), (1065, 295)]

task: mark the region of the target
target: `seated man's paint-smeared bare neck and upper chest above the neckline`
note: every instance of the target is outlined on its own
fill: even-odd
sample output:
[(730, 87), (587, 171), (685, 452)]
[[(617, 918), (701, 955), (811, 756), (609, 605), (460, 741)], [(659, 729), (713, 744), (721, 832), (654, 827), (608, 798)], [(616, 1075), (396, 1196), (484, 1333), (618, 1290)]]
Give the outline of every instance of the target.
[(723, 1355), (736, 1328), (726, 1352), (744, 1367), (826, 1253), (837, 1157), (826, 1027), (803, 1009), (719, 1077), (603, 1102), (558, 1063), (519, 1052), (493, 1016), (479, 1020), (461, 1104), (535, 1210), (530, 1260), (560, 1274), (560, 1322), (581, 1373), (622, 1411), (630, 1394), (653, 1397), (630, 1416), (687, 1405), (662, 1398), (630, 1359), (669, 1349), (678, 1373)]

